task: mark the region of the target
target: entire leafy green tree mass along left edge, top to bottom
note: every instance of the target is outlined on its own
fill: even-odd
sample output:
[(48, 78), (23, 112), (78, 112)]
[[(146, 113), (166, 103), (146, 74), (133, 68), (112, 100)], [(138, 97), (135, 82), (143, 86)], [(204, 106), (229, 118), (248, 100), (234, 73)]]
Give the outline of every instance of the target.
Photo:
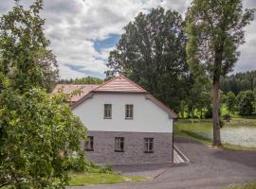
[(42, 1), (28, 10), (15, 2), (0, 23), (0, 188), (64, 188), (68, 151), (84, 160), (85, 128), (66, 103), (70, 96), (46, 94), (57, 72)]

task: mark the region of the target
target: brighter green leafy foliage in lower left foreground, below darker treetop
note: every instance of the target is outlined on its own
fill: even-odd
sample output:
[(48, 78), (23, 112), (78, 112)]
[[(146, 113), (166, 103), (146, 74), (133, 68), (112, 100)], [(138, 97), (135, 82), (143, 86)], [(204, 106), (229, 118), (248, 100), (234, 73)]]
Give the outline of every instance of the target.
[(0, 97), (0, 183), (64, 188), (67, 152), (79, 152), (85, 137), (66, 96), (32, 89), (22, 95), (4, 90)]

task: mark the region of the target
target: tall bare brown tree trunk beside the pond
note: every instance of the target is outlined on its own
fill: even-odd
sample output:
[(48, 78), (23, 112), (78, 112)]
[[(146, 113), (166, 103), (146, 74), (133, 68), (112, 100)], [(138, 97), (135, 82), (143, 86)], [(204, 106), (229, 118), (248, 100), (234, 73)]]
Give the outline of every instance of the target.
[(212, 125), (213, 125), (213, 140), (212, 146), (221, 146), (220, 138), (220, 123), (219, 123), (219, 77), (213, 77), (212, 85)]

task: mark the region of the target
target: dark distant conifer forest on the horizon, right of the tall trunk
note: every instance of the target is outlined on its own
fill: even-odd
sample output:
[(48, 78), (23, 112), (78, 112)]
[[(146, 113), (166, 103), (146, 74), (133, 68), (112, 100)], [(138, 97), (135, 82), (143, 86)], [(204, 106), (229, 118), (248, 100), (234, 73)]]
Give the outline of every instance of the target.
[(236, 95), (241, 91), (253, 91), (256, 88), (256, 70), (222, 77), (220, 88), (226, 94), (231, 91)]

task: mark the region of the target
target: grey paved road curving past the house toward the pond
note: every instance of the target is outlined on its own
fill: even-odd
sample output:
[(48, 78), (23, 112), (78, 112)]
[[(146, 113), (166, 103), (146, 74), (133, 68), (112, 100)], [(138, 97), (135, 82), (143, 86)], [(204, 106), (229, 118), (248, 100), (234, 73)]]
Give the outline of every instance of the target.
[(157, 179), (74, 189), (218, 189), (230, 183), (256, 180), (256, 152), (212, 149), (177, 137), (175, 145), (190, 159), (188, 166), (172, 167)]

